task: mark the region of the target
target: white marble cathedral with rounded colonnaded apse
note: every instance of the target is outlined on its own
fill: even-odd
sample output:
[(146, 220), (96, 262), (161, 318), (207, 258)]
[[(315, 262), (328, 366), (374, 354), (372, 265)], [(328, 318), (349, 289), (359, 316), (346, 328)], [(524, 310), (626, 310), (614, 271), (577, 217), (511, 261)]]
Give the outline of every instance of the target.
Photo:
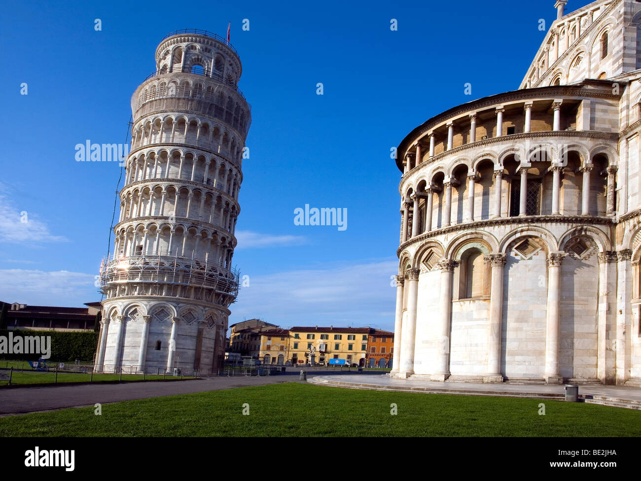
[(641, 3), (557, 18), (518, 90), (397, 147), (392, 377), (641, 382)]

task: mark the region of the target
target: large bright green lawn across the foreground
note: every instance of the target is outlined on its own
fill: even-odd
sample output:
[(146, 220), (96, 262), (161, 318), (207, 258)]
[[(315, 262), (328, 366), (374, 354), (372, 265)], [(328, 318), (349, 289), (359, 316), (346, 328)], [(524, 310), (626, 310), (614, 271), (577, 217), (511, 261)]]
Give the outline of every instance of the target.
[(104, 404), (101, 416), (94, 407), (8, 416), (0, 436), (641, 436), (641, 416), (562, 401), (283, 383)]

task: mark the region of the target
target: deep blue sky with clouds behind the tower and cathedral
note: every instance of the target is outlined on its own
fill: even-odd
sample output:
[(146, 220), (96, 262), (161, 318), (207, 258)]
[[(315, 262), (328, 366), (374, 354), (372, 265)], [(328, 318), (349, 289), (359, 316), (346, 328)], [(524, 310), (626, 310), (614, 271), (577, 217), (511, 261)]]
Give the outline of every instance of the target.
[[(566, 12), (586, 4), (570, 0)], [(549, 26), (553, 7), (553, 0), (5, 4), (0, 300), (100, 299), (94, 275), (108, 247), (119, 166), (76, 162), (74, 147), (124, 142), (131, 95), (155, 70), (166, 33), (224, 36), (231, 21), (243, 65), (238, 86), (253, 120), (233, 258), (249, 287), (229, 323), (258, 317), (283, 327), (393, 330), (400, 172), (390, 149), (440, 111), (518, 88), (545, 35), (538, 19)], [(324, 95), (316, 94), (319, 82)], [(294, 225), (294, 209), (305, 204), (346, 208), (347, 229)]]

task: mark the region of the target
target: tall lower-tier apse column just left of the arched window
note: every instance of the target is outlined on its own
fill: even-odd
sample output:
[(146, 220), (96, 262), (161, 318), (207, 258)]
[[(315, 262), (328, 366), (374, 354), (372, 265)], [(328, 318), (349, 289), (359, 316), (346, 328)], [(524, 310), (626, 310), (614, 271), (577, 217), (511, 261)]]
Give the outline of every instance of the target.
[(431, 375), (433, 381), (444, 381), (449, 377), (449, 331), (452, 316), (452, 275), (456, 262), (450, 259), (440, 261), (440, 305), (438, 309), (437, 362)]

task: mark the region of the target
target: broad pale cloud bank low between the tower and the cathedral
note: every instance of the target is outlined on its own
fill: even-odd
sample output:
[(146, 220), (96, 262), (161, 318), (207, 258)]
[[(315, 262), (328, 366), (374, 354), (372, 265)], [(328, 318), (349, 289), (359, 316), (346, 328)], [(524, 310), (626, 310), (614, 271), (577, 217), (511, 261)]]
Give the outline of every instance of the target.
[(394, 330), (396, 289), (390, 276), (398, 261), (374, 260), (326, 268), (249, 275), (229, 323), (244, 317), (281, 325), (372, 326)]

